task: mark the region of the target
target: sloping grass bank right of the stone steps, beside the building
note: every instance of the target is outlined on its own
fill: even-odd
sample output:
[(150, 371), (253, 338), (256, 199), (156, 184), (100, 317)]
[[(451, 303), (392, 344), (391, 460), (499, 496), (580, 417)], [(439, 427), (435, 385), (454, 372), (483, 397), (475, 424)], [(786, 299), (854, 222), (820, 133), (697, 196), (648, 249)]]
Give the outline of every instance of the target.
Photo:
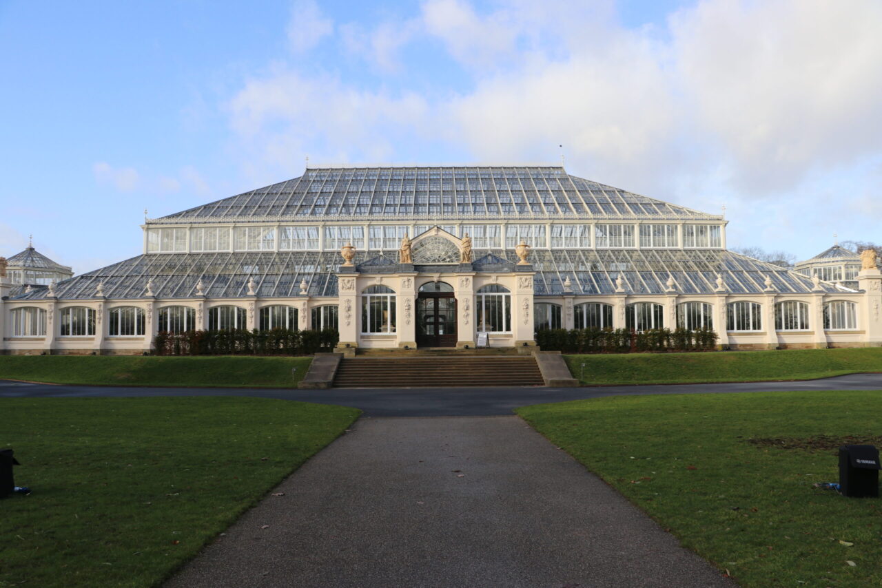
[(691, 354), (564, 355), (583, 384), (757, 382), (811, 380), (856, 372), (882, 372), (882, 347), (787, 349)]

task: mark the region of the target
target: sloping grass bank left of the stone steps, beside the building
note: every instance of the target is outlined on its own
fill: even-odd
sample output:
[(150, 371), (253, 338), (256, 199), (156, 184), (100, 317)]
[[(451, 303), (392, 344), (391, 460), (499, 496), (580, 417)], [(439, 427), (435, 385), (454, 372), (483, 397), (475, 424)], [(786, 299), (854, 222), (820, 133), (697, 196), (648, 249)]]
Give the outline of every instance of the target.
[[(310, 357), (0, 355), (0, 379), (100, 386), (294, 388)], [(292, 376), (292, 368), (296, 368)]]

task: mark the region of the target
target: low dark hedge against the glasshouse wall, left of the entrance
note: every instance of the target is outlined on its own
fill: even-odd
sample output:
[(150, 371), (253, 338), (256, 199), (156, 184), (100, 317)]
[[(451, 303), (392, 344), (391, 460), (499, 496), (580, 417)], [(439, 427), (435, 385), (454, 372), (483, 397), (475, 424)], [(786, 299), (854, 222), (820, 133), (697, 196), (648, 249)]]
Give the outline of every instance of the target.
[(331, 351), (340, 334), (336, 329), (292, 331), (160, 331), (153, 338), (156, 355), (311, 355)]

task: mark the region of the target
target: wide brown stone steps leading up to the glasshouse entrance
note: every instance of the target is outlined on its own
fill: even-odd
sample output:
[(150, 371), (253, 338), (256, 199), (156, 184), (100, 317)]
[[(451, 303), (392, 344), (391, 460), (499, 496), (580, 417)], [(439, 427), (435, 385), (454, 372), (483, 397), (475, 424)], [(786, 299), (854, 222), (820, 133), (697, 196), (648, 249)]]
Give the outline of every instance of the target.
[(542, 386), (532, 355), (354, 357), (340, 361), (335, 388)]

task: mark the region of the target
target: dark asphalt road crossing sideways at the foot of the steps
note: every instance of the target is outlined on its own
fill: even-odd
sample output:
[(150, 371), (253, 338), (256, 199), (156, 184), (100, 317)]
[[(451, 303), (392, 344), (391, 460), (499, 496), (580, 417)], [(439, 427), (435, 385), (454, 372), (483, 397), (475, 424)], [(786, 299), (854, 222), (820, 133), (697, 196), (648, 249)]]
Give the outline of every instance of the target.
[(250, 396), (355, 406), (365, 416), (500, 416), (518, 406), (604, 396), (706, 394), (759, 391), (882, 390), (882, 374), (851, 374), (802, 382), (691, 383), (584, 388), (142, 388), (70, 386), (0, 380), (0, 398), (78, 398), (144, 396)]

